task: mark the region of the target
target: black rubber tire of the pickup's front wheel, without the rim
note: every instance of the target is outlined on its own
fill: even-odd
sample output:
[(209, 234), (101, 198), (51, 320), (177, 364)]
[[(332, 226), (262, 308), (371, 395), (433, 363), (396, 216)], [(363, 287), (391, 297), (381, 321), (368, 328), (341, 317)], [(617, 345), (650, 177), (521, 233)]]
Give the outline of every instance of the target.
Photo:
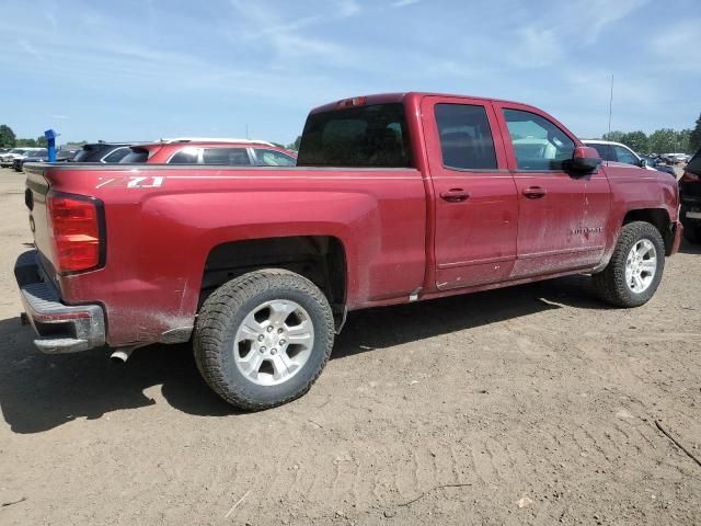
[[(642, 293), (634, 293), (625, 282), (625, 262), (631, 249), (643, 239), (650, 240), (655, 247), (657, 268), (650, 286)], [(662, 281), (664, 268), (665, 243), (659, 230), (650, 222), (629, 222), (621, 228), (609, 264), (602, 272), (593, 276), (594, 286), (597, 295), (604, 301), (616, 307), (640, 307), (654, 296)]]

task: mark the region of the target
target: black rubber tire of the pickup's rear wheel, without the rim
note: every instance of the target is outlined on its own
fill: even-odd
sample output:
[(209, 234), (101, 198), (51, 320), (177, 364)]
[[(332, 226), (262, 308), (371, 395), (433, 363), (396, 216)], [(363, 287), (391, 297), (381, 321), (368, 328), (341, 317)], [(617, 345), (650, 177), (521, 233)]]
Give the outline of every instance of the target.
[[(278, 385), (261, 386), (237, 366), (234, 339), (246, 316), (274, 300), (294, 301), (308, 312), (313, 343), (307, 362), (291, 378)], [(197, 368), (209, 387), (232, 405), (257, 411), (304, 395), (326, 365), (333, 339), (333, 313), (323, 293), (292, 272), (265, 270), (232, 279), (207, 298), (197, 318), (193, 346)]]

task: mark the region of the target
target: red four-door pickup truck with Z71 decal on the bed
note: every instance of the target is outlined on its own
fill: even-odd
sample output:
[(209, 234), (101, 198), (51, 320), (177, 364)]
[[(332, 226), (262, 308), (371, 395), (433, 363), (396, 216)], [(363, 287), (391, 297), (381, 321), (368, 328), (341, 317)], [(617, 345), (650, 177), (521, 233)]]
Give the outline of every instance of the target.
[(646, 302), (677, 183), (602, 164), (525, 104), (402, 93), (313, 110), (297, 167), (28, 165), (15, 275), (46, 353), (193, 340), (228, 402), (303, 395), (346, 313), (590, 274)]

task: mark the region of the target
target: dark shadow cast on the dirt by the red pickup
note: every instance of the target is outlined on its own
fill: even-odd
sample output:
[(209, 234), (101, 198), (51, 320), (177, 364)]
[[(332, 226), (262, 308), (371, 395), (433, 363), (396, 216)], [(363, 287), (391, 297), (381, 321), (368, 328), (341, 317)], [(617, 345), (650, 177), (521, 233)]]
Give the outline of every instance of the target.
[[(606, 308), (583, 277), (456, 296), (352, 313), (332, 359), (514, 319), (562, 305)], [(19, 318), (0, 321), (0, 408), (12, 431), (41, 433), (72, 420), (94, 420), (157, 403), (145, 390), (161, 386), (175, 409), (194, 415), (239, 414), (205, 385), (189, 345), (154, 345), (114, 365), (106, 350), (48, 356), (34, 350)]]

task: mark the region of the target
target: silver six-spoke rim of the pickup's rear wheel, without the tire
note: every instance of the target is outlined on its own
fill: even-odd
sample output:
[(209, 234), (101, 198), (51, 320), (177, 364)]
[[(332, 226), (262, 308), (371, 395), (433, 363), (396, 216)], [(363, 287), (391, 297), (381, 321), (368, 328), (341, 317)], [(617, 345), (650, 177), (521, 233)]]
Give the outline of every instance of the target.
[(314, 328), (309, 312), (289, 299), (261, 304), (241, 322), (233, 342), (239, 371), (258, 386), (284, 384), (309, 361)]

